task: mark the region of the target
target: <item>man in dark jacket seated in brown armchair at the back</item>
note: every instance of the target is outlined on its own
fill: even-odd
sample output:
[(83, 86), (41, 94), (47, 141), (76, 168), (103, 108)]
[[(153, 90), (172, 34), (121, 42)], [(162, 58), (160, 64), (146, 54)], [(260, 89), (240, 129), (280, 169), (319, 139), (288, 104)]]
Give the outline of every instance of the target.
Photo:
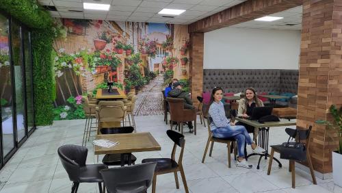
[[(168, 97), (173, 97), (173, 98), (179, 98), (179, 99), (185, 99), (185, 103), (184, 103), (184, 108), (185, 109), (194, 109), (194, 105), (192, 105), (192, 100), (189, 98), (189, 92), (185, 92), (182, 90), (182, 86), (181, 83), (179, 82), (175, 82), (173, 83), (174, 89), (170, 90), (170, 92), (168, 92)], [(190, 132), (192, 132), (192, 128), (194, 128), (192, 126), (192, 121), (189, 121), (187, 123), (187, 126), (190, 129)]]

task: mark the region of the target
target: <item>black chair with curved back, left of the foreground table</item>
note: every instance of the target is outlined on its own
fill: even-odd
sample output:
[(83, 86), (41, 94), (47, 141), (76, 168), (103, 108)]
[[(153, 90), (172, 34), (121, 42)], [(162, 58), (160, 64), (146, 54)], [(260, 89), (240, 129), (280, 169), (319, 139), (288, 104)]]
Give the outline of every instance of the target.
[(73, 181), (71, 193), (77, 192), (79, 183), (98, 183), (98, 189), (102, 192), (101, 183), (103, 179), (99, 171), (108, 167), (103, 164), (86, 165), (88, 155), (86, 147), (64, 145), (60, 146), (57, 152), (70, 181)]

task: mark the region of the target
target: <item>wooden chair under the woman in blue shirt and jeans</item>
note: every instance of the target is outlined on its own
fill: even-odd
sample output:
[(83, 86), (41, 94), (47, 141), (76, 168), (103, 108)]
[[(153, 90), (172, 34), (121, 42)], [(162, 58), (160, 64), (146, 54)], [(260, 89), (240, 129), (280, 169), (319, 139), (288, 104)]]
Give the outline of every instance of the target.
[(236, 157), (237, 157), (237, 143), (236, 143), (235, 138), (226, 138), (226, 139), (214, 138), (213, 137), (213, 132), (211, 132), (211, 129), (210, 129), (211, 118), (209, 116), (207, 118), (207, 121), (208, 121), (207, 122), (208, 123), (208, 140), (207, 140), (207, 145), (205, 146), (205, 153), (203, 154), (202, 163), (205, 163), (205, 157), (207, 155), (210, 142), (211, 142), (210, 152), (209, 152), (209, 156), (210, 157), (211, 157), (211, 153), (213, 152), (213, 144), (214, 144), (214, 142), (218, 142), (218, 143), (227, 144), (227, 148), (228, 148), (228, 168), (231, 168), (231, 152), (232, 152), (232, 147), (233, 147), (233, 151), (234, 151), (234, 159), (236, 159)]

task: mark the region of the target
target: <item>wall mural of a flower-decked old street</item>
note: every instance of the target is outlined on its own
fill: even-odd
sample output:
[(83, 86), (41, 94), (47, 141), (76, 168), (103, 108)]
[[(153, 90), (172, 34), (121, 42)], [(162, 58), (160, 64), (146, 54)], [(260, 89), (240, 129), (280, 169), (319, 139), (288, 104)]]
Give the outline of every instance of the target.
[(82, 95), (107, 81), (139, 92), (153, 79), (188, 90), (187, 25), (55, 18), (55, 120), (84, 118)]

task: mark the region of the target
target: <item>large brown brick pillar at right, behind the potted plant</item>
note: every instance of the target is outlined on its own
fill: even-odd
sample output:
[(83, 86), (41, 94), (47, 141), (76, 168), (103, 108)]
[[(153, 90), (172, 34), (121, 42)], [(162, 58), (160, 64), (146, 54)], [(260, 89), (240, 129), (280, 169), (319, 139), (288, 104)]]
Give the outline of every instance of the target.
[(315, 120), (330, 119), (330, 105), (342, 104), (341, 28), (342, 0), (304, 0), (297, 126), (313, 125), (311, 158), (322, 173), (332, 172), (337, 143)]

